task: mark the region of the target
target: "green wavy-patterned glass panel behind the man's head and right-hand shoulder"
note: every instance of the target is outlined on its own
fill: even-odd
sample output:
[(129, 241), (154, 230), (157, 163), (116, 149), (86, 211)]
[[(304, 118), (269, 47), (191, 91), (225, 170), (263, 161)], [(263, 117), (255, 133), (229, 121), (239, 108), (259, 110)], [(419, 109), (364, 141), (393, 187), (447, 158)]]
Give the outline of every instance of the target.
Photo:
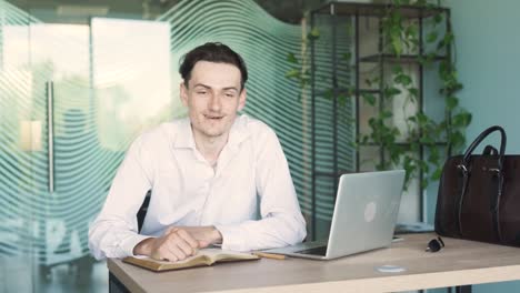
[[(289, 52), (301, 50), (301, 27), (291, 26), (272, 18), (253, 1), (182, 1), (166, 13), (161, 21), (172, 28), (172, 60), (191, 48), (207, 41), (220, 41), (237, 50), (247, 61), (250, 72), (248, 81), (248, 105), (244, 112), (271, 125), (286, 151), (303, 212), (311, 213), (311, 125), (310, 92), (301, 94), (299, 84), (284, 78), (292, 64), (287, 61)], [(342, 20), (349, 21), (348, 19)], [(327, 24), (327, 23), (326, 23)], [(322, 27), (324, 28), (323, 24)], [(317, 73), (322, 89), (331, 83), (330, 30), (323, 29), (317, 42)], [(338, 32), (338, 55), (349, 46), (348, 36)], [(340, 58), (338, 58), (340, 59)], [(340, 72), (348, 72), (347, 62)], [(177, 68), (177, 63), (173, 64)], [(340, 75), (348, 83), (348, 75)], [(303, 99), (301, 97), (304, 97)], [(349, 121), (351, 107), (347, 103), (339, 112), (338, 121)], [(317, 170), (331, 172), (332, 153), (332, 105), (323, 97), (317, 97)], [(343, 124), (349, 124), (346, 122)], [(353, 152), (349, 146), (352, 128), (338, 131), (339, 169), (352, 170)], [(334, 191), (333, 180), (318, 179), (317, 216), (330, 220)], [(327, 182), (327, 183), (326, 183)], [(324, 184), (323, 184), (324, 183)]]

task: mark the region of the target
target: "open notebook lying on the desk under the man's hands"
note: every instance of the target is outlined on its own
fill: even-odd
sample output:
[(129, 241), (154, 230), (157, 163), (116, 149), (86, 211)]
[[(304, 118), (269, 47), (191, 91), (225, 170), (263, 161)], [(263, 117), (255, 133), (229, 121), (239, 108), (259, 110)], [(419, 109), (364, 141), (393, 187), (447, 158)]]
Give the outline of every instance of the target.
[(258, 259), (260, 257), (250, 253), (224, 251), (220, 249), (203, 249), (200, 250), (196, 255), (178, 262), (157, 261), (148, 256), (129, 256), (124, 257), (123, 262), (131, 263), (154, 272), (160, 272), (212, 265), (217, 262), (237, 262)]

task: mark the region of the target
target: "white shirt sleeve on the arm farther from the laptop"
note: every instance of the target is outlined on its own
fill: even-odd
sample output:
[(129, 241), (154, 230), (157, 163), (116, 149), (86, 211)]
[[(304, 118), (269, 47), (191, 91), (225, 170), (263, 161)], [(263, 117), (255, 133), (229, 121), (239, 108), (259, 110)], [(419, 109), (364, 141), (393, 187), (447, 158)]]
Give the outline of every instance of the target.
[(133, 255), (150, 238), (138, 234), (137, 212), (151, 186), (151, 161), (137, 139), (118, 169), (101, 213), (89, 230), (89, 247), (98, 260)]

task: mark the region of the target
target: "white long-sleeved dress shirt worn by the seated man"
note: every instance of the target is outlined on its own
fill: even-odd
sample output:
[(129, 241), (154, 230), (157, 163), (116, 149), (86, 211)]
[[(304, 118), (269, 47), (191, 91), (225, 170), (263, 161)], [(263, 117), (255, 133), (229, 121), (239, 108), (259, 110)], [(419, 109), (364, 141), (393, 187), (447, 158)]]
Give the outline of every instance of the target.
[[(138, 234), (136, 214), (148, 190), (151, 200)], [(133, 255), (139, 242), (160, 236), (170, 225), (214, 225), (224, 250), (301, 242), (306, 223), (274, 132), (258, 120), (238, 117), (217, 166), (197, 150), (189, 119), (139, 137), (90, 228), (90, 250), (97, 259)]]

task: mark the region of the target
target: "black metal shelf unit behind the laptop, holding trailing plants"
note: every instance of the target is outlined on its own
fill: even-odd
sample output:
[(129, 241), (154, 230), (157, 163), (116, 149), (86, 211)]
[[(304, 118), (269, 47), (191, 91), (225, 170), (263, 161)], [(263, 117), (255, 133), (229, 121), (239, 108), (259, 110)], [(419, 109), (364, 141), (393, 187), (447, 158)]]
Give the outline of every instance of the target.
[[(390, 64), (398, 62), (400, 64), (416, 68), (416, 78), (419, 91), (417, 111), (424, 111), (424, 69), (421, 62), (419, 62), (421, 58), (426, 57), (423, 21), (434, 17), (436, 14), (442, 13), (444, 14), (446, 20), (446, 23), (443, 23), (446, 27), (444, 29), (449, 30), (449, 10), (446, 8), (423, 8), (416, 6), (400, 6), (397, 8), (403, 18), (410, 21), (417, 21), (419, 27), (419, 44), (417, 46), (417, 50), (404, 52), (397, 57), (388, 53), (383, 44), (384, 38), (381, 23), (382, 19), (388, 13), (388, 8), (389, 4), (332, 1), (311, 11), (310, 26), (311, 28), (318, 28), (320, 31), (320, 38), (318, 40), (311, 40), (312, 222), (310, 224), (310, 235), (312, 239), (316, 239), (317, 236), (320, 238), (319, 235), (323, 234), (321, 232), (322, 229), (318, 226), (319, 220), (317, 216), (319, 215), (319, 212), (317, 211), (317, 206), (320, 204), (321, 199), (329, 199), (329, 201), (333, 202), (336, 190), (338, 188), (339, 174), (344, 172), (369, 171), (361, 165), (361, 154), (359, 150), (353, 150), (354, 146), (344, 145), (344, 135), (351, 135), (349, 138), (350, 142), (356, 142), (360, 137), (362, 131), (361, 124), (363, 123), (361, 120), (366, 119), (364, 117), (361, 118), (362, 109), (360, 108), (360, 104), (362, 94), (370, 93), (379, 97), (379, 108), (376, 109), (376, 111), (383, 110), (383, 103), (381, 102), (384, 90), (383, 81), (388, 78), (386, 75), (388, 75), (387, 70), (390, 68)], [(394, 8), (396, 7), (393, 7), (393, 9)], [(341, 36), (341, 33), (346, 33), (342, 29), (343, 24), (351, 28), (350, 33), (352, 36), (349, 37), (349, 40), (351, 41), (347, 41), (347, 46), (353, 53), (350, 54), (349, 58), (344, 58), (343, 52), (339, 50), (339, 47), (344, 48), (346, 46), (344, 40), (342, 43), (339, 42), (339, 40), (341, 40), (339, 36)], [(374, 29), (363, 29), (364, 34), (367, 34), (369, 30), (371, 30), (373, 34), (361, 36), (360, 28), (363, 24), (364, 27), (371, 27), (373, 24)], [(328, 34), (326, 37), (330, 38), (324, 38), (327, 41), (320, 42), (323, 34)], [(372, 47), (374, 47), (372, 50), (370, 50), (369, 46), (361, 48), (361, 43), (367, 42), (364, 40), (366, 38), (372, 39)], [(449, 47), (446, 49), (446, 52), (450, 52)], [(317, 60), (320, 60), (320, 63), (322, 63), (326, 58), (330, 60), (330, 69), (317, 68)], [(439, 61), (444, 58), (449, 58), (449, 54), (434, 55), (430, 58), (432, 61)], [(346, 61), (346, 59), (348, 60)], [(361, 68), (368, 67), (369, 64), (374, 68), (371, 74), (379, 74), (380, 82), (376, 87), (366, 87), (362, 84), (361, 75), (363, 72), (361, 72)], [(341, 70), (347, 70), (348, 72), (346, 73)], [(323, 81), (322, 78), (317, 78), (322, 75), (329, 75), (330, 78), (328, 81)], [(323, 97), (327, 99), (323, 99)], [(350, 101), (350, 98), (348, 97), (353, 98), (352, 103), (348, 102)], [(346, 100), (348, 105), (339, 107), (346, 105)], [(330, 111), (329, 117), (331, 129), (327, 133), (321, 131), (323, 127), (320, 119), (322, 119), (323, 115), (319, 115), (319, 113), (322, 113), (323, 111)], [(347, 120), (341, 121), (342, 119)], [(349, 123), (348, 119), (353, 119), (356, 122)], [(329, 137), (324, 138), (327, 135)], [(327, 145), (327, 148), (329, 148), (328, 151), (323, 151), (321, 149), (323, 144), (317, 145), (319, 142), (323, 143), (323, 141), (330, 142), (330, 144)], [(403, 141), (402, 144), (406, 144), (406, 142)], [(342, 159), (339, 153), (339, 150), (343, 150), (343, 148), (352, 149), (353, 159), (347, 163), (341, 162)], [(379, 148), (379, 150), (377, 150), (379, 159), (384, 160), (384, 155), (387, 154), (380, 145), (368, 143), (367, 148)], [(324, 156), (323, 153), (329, 154), (329, 163), (327, 165), (320, 165), (320, 160)], [(424, 156), (424, 150), (422, 146), (417, 155), (420, 155), (420, 158)], [(421, 182), (422, 175), (423, 174), (420, 174), (419, 182)], [(329, 178), (331, 183), (328, 185), (328, 190), (320, 191), (319, 185), (323, 185), (323, 178)], [(421, 194), (418, 194), (418, 201), (420, 202), (419, 213), (421, 215), (421, 221), (424, 221), (424, 199)], [(327, 226), (327, 224), (323, 226)], [(326, 231), (326, 233), (328, 233), (328, 231)]]

